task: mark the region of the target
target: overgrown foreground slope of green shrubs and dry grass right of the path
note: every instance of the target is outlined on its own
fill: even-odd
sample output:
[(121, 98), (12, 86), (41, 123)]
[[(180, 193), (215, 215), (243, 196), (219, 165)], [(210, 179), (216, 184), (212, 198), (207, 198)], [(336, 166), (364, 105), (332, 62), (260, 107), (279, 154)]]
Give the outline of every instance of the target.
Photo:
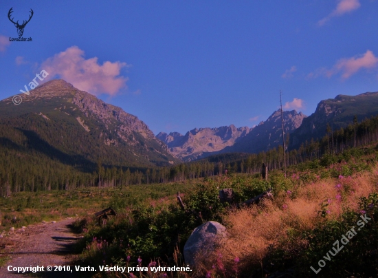
[[(185, 266), (183, 249), (192, 230), (210, 220), (227, 227), (228, 236), (203, 250), (193, 272), (98, 273), (96, 277), (303, 277), (315, 275), (318, 261), (333, 253), (360, 219), (368, 222), (340, 253), (326, 260), (318, 277), (375, 277), (378, 274), (378, 151), (375, 146), (348, 149), (258, 175), (228, 174), (192, 185), (183, 195), (148, 198), (135, 206), (120, 204), (120, 214), (99, 226), (93, 218), (76, 222), (83, 239), (78, 261), (93, 266)], [(232, 188), (242, 202), (266, 189), (273, 199), (236, 209), (219, 202), (218, 192)], [(122, 197), (119, 199), (121, 202)], [(357, 230), (356, 230), (357, 231)], [(328, 254), (328, 255), (327, 255)], [(134, 276), (133, 276), (134, 275)], [(283, 276), (282, 276), (283, 275)]]

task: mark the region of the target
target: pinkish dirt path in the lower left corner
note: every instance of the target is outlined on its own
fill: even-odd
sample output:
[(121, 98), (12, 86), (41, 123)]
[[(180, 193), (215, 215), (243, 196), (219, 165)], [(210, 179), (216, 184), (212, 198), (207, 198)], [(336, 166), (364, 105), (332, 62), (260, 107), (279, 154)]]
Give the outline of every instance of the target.
[[(0, 268), (0, 277), (82, 277), (80, 273), (73, 272), (47, 272), (47, 266), (67, 266), (71, 257), (72, 246), (77, 240), (76, 235), (69, 228), (73, 219), (47, 222), (44, 224), (27, 226), (25, 231), (21, 229), (10, 235), (13, 246), (5, 247), (5, 254), (12, 259)], [(17, 273), (9, 272), (8, 266), (44, 266), (44, 272)], [(74, 268), (74, 266), (71, 266)]]

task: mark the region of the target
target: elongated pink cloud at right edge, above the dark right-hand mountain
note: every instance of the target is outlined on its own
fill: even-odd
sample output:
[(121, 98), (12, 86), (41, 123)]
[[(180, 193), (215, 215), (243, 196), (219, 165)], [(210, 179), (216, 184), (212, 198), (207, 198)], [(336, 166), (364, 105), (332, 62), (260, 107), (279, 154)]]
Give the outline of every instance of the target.
[(333, 65), (331, 69), (324, 67), (311, 72), (307, 77), (315, 78), (318, 76), (331, 76), (341, 73), (342, 78), (346, 79), (357, 73), (360, 69), (374, 69), (378, 67), (378, 58), (370, 50), (365, 54), (357, 55), (351, 58), (342, 58)]

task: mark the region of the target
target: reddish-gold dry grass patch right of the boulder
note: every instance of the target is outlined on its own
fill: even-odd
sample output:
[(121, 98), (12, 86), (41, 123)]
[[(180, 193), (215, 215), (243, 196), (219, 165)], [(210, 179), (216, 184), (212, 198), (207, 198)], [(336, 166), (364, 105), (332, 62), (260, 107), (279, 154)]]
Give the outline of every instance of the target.
[(377, 191), (377, 173), (375, 169), (353, 178), (319, 180), (296, 186), (293, 192), (281, 192), (274, 201), (264, 200), (258, 206), (230, 211), (225, 220), (229, 236), (212, 254), (199, 255), (198, 260), (204, 261), (199, 272), (217, 271), (232, 277), (238, 268), (263, 268), (273, 247), (291, 252), (306, 248), (307, 241), (292, 237), (293, 232), (313, 230), (324, 221), (320, 217), (322, 204), (327, 204), (324, 209), (328, 220), (340, 219), (346, 207), (357, 211), (359, 199)]

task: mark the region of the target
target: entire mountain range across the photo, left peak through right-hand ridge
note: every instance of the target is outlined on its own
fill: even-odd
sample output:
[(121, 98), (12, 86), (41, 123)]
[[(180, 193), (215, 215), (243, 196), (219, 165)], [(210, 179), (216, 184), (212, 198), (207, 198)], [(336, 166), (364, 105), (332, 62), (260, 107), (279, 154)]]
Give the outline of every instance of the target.
[[(43, 156), (93, 172), (105, 167), (155, 167), (223, 153), (258, 153), (282, 144), (280, 109), (256, 127), (199, 128), (185, 135), (155, 136), (137, 116), (104, 103), (63, 80), (53, 80), (23, 94), (20, 105), (0, 101), (0, 146), (15, 156)], [(283, 111), (289, 149), (322, 138), (326, 126), (346, 127), (378, 114), (378, 92), (338, 95), (322, 100), (311, 116)], [(4, 152), (3, 152), (4, 153)], [(47, 162), (46, 162), (47, 163)]]

